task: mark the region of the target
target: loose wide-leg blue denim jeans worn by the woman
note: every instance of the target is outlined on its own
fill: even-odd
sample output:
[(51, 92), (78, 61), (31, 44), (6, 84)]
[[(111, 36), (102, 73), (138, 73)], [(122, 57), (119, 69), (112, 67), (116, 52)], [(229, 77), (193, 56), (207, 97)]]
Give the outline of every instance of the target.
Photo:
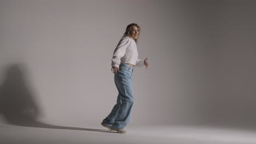
[(118, 89), (117, 104), (114, 105), (109, 115), (103, 119), (103, 123), (113, 129), (123, 129), (130, 121), (133, 105), (132, 73), (133, 68), (122, 63), (119, 65), (119, 71), (114, 75), (115, 86)]

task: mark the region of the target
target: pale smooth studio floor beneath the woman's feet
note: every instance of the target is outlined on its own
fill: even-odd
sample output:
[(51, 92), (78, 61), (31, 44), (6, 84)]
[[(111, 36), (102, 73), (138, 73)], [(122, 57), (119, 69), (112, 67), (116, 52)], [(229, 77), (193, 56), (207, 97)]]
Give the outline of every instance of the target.
[(85, 128), (74, 127), (26, 127), (0, 124), (0, 143), (188, 143), (188, 144), (247, 144), (256, 143), (256, 131), (199, 125), (129, 125), (127, 134), (117, 134), (100, 124)]

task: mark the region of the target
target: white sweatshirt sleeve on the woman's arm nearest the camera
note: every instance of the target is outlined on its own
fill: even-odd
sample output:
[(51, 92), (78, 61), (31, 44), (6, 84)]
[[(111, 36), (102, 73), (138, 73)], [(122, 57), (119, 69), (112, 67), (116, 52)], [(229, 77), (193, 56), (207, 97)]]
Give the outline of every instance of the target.
[(121, 58), (124, 57), (126, 53), (126, 48), (130, 45), (129, 40), (121, 39), (114, 50), (112, 57), (112, 67), (119, 67)]

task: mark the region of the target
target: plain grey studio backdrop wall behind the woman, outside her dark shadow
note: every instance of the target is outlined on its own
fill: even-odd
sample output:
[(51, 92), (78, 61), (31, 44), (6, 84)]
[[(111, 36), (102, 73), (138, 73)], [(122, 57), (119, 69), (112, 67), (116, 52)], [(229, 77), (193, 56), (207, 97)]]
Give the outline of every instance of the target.
[(100, 124), (118, 94), (113, 51), (135, 22), (149, 68), (134, 70), (131, 124), (254, 127), (255, 8), (255, 1), (1, 0), (0, 81), (18, 64), (28, 90), (2, 87), (1, 97), (33, 103), (42, 122)]

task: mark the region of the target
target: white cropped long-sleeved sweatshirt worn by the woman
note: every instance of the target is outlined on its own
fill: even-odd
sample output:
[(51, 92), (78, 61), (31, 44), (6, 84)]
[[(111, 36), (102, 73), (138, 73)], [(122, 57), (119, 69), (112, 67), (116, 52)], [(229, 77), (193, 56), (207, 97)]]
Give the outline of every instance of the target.
[(121, 38), (114, 50), (112, 67), (119, 67), (121, 63), (130, 63), (135, 67), (143, 67), (145, 65), (144, 60), (138, 59), (137, 44), (130, 37), (124, 36)]

